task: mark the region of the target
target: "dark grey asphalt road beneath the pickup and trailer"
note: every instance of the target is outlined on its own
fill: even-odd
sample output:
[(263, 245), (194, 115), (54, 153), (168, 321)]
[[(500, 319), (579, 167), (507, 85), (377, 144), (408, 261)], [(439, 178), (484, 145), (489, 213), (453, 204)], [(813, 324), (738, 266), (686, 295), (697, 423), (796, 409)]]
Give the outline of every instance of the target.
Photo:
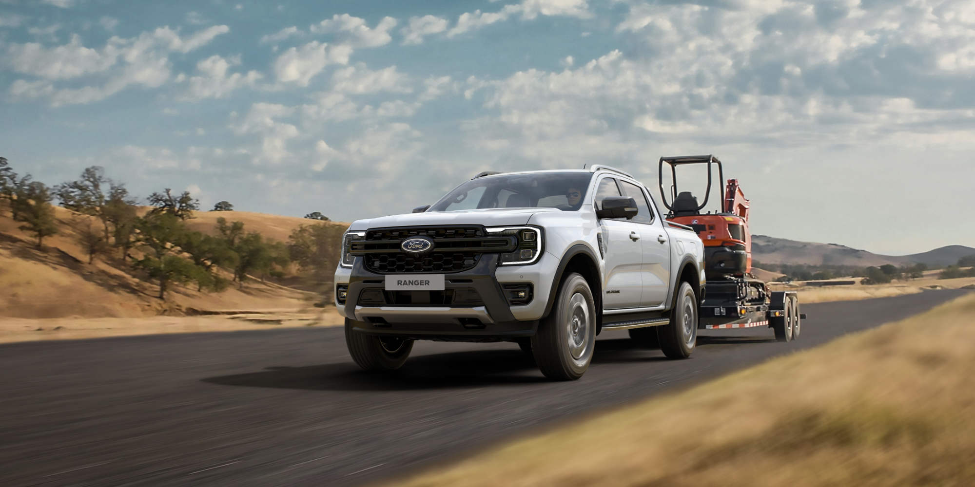
[(360, 372), (342, 330), (156, 335), (0, 346), (0, 485), (356, 485), (554, 421), (699, 383), (906, 318), (963, 291), (805, 305), (798, 342), (702, 333), (687, 360), (604, 333), (579, 381), (514, 344), (419, 342)]

